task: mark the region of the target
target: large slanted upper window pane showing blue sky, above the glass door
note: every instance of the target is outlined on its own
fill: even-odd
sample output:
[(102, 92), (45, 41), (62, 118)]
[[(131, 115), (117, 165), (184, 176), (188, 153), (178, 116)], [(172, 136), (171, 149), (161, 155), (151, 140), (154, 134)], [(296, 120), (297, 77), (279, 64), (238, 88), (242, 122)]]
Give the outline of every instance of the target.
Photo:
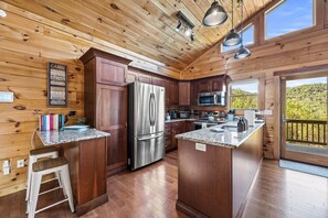
[(265, 14), (265, 39), (314, 26), (314, 0), (284, 0)]

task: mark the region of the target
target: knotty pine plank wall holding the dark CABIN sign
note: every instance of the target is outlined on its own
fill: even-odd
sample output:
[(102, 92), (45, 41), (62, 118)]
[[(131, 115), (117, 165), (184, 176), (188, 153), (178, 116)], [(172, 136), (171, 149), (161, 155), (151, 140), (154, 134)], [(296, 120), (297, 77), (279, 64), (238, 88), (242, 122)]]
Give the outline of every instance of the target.
[[(133, 59), (131, 66), (180, 77), (180, 72), (131, 53), (63, 24), (0, 2), (8, 13), (0, 19), (0, 91), (13, 91), (13, 103), (0, 103), (0, 196), (23, 189), (27, 167), (17, 168), (17, 160), (28, 160), (30, 138), (42, 113), (76, 111), (74, 122), (84, 115), (84, 69), (78, 57), (89, 47)], [(67, 108), (46, 107), (46, 63), (67, 65)], [(3, 176), (2, 162), (10, 160), (11, 174)], [(27, 165), (27, 163), (25, 163)]]

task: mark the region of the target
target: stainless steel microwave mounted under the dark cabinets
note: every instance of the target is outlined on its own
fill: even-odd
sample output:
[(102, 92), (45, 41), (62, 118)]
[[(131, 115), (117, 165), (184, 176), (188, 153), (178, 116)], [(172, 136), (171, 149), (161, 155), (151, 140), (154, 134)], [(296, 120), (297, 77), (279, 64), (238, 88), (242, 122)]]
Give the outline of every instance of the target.
[(225, 91), (198, 94), (198, 106), (225, 106)]

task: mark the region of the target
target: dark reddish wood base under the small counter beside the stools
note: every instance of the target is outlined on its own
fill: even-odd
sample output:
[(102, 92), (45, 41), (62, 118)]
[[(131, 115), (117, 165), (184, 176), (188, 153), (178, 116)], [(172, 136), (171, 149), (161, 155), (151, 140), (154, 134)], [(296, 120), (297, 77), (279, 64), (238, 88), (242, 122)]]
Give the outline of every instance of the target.
[(105, 152), (106, 140), (109, 138), (60, 145), (62, 155), (70, 163), (72, 192), (77, 216), (108, 201)]

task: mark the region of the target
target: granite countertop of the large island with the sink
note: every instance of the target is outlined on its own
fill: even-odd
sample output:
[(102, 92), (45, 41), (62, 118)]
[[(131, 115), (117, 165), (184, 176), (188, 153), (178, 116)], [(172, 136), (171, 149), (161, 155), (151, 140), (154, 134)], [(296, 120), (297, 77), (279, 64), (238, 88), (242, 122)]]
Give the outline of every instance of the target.
[(265, 123), (255, 123), (254, 127), (250, 127), (247, 131), (237, 132), (236, 128), (224, 129), (223, 132), (212, 132), (211, 129), (218, 130), (223, 126), (236, 127), (236, 122), (226, 122), (224, 124), (218, 124), (211, 128), (200, 129), (182, 134), (177, 134), (177, 139), (193, 141), (204, 144), (212, 144), (218, 146), (226, 146), (231, 149), (239, 148), (246, 139), (248, 139), (256, 130), (262, 128)]

